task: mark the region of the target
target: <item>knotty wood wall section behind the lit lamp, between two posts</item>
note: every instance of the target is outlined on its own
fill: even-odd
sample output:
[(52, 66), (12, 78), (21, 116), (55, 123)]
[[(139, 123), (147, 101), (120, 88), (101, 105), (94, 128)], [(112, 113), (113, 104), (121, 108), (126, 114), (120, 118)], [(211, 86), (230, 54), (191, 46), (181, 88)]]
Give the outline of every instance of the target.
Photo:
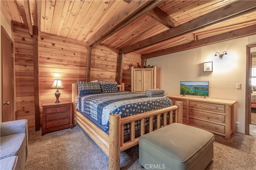
[[(85, 81), (86, 56), (85, 42), (54, 36), (41, 32), (38, 37), (39, 56), (39, 105), (40, 122), (42, 123), (43, 102), (56, 101), (51, 89), (54, 79), (61, 79), (64, 89), (60, 90), (60, 102), (71, 101), (72, 83), (78, 80)], [(59, 77), (56, 77), (59, 74)]]

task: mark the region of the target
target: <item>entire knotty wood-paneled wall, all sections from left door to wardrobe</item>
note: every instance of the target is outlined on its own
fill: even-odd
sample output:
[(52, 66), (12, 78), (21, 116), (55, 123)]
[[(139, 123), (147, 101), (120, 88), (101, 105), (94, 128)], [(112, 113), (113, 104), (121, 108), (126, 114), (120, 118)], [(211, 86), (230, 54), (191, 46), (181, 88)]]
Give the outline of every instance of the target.
[[(17, 119), (28, 119), (29, 129), (35, 128), (33, 38), (28, 29), (14, 28), (16, 109)], [(42, 123), (43, 102), (54, 103), (54, 79), (62, 79), (60, 102), (71, 101), (72, 83), (86, 80), (86, 43), (41, 32), (38, 36), (39, 107)], [(116, 81), (118, 77), (118, 50), (97, 45), (92, 49), (90, 81)], [(130, 91), (130, 67), (140, 62), (135, 53), (124, 56), (122, 83)], [(58, 73), (59, 77), (55, 74)]]

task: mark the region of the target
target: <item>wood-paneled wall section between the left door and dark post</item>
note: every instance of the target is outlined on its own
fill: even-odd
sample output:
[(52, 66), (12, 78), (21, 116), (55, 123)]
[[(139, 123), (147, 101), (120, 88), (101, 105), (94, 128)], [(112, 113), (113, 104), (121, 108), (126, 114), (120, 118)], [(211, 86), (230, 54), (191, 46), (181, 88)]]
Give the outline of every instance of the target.
[(14, 26), (16, 120), (28, 119), (35, 128), (33, 38), (29, 30)]

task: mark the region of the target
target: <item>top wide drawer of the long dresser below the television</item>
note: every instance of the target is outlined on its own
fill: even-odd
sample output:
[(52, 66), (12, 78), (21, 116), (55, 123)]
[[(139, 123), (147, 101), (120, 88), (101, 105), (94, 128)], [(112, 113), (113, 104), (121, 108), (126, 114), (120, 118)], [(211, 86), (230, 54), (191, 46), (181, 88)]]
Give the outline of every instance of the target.
[(217, 105), (217, 104), (211, 104), (211, 103), (201, 103), (201, 102), (190, 101), (189, 107), (225, 113), (225, 105)]

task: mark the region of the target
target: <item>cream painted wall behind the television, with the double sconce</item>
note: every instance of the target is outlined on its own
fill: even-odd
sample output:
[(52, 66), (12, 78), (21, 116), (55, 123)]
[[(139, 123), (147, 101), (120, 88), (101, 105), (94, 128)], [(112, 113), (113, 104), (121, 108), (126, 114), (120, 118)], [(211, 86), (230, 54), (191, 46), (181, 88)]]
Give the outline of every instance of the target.
[[(157, 67), (157, 88), (165, 94), (179, 95), (180, 81), (209, 81), (209, 97), (236, 100), (234, 121), (245, 133), (245, 72), (246, 45), (256, 43), (256, 36), (246, 36), (203, 47), (147, 59), (146, 65)], [(214, 57), (216, 52), (226, 51), (223, 59)], [(203, 72), (203, 62), (213, 61), (213, 72)], [(241, 89), (236, 89), (241, 83)]]

